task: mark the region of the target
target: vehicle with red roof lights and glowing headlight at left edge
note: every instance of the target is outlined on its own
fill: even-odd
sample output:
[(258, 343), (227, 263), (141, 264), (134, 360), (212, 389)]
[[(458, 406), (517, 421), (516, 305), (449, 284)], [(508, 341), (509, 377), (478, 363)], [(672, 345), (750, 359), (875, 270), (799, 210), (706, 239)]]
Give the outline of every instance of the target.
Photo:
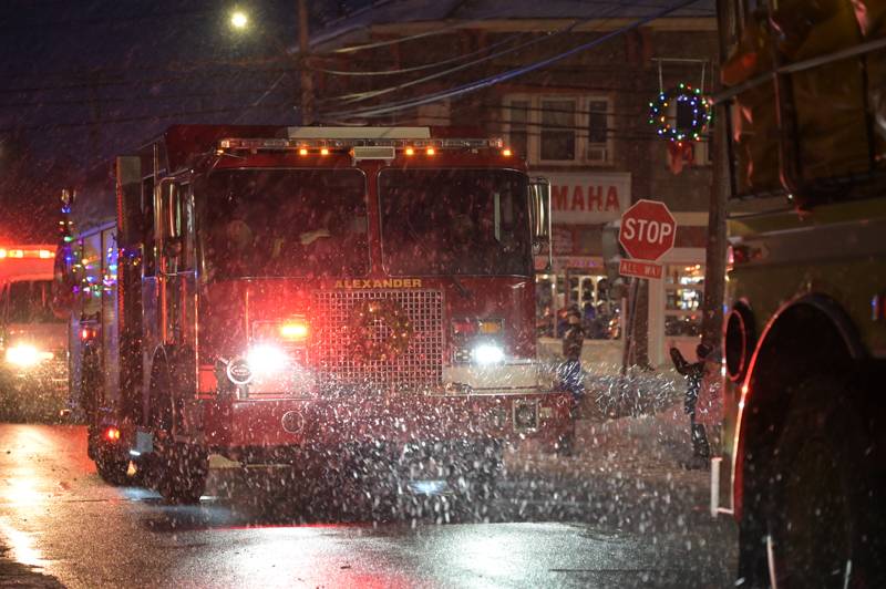
[(65, 409), (68, 338), (51, 306), (53, 249), (0, 247), (0, 418), (55, 421)]

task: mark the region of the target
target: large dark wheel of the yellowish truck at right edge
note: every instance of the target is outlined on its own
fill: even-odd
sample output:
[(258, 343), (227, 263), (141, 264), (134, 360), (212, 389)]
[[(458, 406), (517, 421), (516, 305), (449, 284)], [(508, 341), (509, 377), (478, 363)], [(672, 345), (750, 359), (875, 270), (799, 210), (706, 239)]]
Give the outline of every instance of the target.
[[(882, 506), (864, 462), (865, 428), (845, 381), (817, 378), (794, 391), (765, 494), (770, 581), (782, 587), (882, 587)], [(877, 546), (874, 546), (874, 545)]]

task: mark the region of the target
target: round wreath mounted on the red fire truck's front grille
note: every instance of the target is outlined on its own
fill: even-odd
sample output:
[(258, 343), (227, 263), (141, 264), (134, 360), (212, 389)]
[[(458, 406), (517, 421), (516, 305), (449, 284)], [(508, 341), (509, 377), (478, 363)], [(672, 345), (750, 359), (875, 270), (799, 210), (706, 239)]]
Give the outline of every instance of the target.
[[(379, 328), (387, 331), (378, 338)], [(393, 299), (370, 299), (351, 311), (351, 352), (358, 362), (390, 362), (402, 355), (412, 340), (412, 320)]]

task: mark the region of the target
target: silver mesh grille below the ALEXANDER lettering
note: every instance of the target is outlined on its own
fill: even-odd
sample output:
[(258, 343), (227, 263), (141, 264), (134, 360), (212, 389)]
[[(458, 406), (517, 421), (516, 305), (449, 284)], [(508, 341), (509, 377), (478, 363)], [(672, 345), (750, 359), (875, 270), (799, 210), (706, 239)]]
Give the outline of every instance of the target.
[[(383, 310), (365, 319), (370, 301)], [(320, 329), (313, 355), (323, 386), (422, 389), (442, 382), (440, 291), (321, 291), (315, 294), (315, 310)], [(405, 343), (392, 343), (398, 327), (408, 333)]]

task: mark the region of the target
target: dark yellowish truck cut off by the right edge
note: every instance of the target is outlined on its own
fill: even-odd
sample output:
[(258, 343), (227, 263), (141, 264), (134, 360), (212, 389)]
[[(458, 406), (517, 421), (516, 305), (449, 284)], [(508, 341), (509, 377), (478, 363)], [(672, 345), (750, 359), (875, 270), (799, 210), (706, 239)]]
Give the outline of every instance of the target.
[[(720, 2), (744, 586), (886, 586), (886, 7)], [(724, 133), (725, 135), (725, 133)], [(720, 466), (718, 468), (718, 465)]]

